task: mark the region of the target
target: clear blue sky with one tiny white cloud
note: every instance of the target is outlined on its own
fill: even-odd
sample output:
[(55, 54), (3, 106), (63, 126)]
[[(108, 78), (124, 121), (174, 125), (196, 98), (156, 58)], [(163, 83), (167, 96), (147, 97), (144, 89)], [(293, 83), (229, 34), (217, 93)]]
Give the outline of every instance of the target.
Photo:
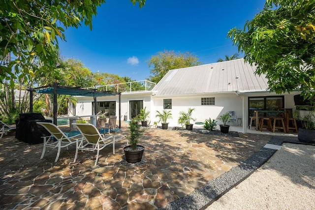
[[(81, 60), (92, 72), (145, 80), (148, 60), (158, 52), (190, 52), (204, 64), (237, 53), (228, 30), (244, 28), (264, 0), (106, 0), (97, 9), (93, 30), (68, 28), (59, 42), (64, 59)], [(240, 56), (242, 56), (240, 54)]]

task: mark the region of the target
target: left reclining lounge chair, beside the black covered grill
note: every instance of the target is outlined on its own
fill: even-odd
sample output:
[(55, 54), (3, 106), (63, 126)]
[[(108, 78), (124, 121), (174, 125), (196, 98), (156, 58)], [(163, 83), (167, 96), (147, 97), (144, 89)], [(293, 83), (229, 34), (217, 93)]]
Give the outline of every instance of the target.
[(63, 133), (63, 131), (60, 130), (57, 125), (50, 123), (50, 122), (36, 122), (37, 124), (43, 126), (51, 135), (50, 136), (42, 136), (44, 139), (44, 145), (43, 145), (43, 152), (40, 156), (40, 159), (43, 159), (46, 148), (57, 148), (57, 156), (55, 159), (55, 162), (57, 162), (60, 151), (62, 148), (67, 148), (71, 144), (76, 143), (75, 137), (79, 137), (80, 134), (73, 136), (73, 137), (68, 137), (66, 133)]

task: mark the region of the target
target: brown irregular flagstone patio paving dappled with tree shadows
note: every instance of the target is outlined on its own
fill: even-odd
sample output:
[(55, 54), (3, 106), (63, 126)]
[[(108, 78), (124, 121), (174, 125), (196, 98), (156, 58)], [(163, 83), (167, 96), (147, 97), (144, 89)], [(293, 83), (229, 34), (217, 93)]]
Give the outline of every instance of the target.
[[(126, 125), (117, 135), (127, 134)], [(242, 134), (216, 136), (147, 129), (141, 139), (147, 162), (122, 165), (126, 140), (95, 153), (75, 146), (46, 151), (42, 144), (28, 145), (11, 133), (0, 139), (0, 209), (44, 210), (155, 210), (184, 197), (207, 181), (237, 166), (262, 148), (271, 136)]]

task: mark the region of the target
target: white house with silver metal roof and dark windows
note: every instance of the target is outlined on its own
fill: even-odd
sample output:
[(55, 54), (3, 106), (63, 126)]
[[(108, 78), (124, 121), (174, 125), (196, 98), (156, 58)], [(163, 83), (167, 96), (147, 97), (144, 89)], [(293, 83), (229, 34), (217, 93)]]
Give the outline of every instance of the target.
[[(141, 108), (147, 107), (149, 121), (153, 124), (158, 121), (156, 111), (165, 109), (173, 115), (169, 126), (179, 126), (179, 112), (188, 108), (195, 108), (193, 117), (198, 122), (217, 119), (227, 111), (234, 111), (238, 119), (236, 125), (242, 125), (243, 132), (246, 132), (254, 109), (292, 109), (293, 95), (299, 94), (270, 92), (267, 79), (255, 75), (255, 68), (244, 59), (237, 59), (170, 70), (152, 90), (122, 92), (120, 118), (129, 120)], [(98, 97), (97, 101), (97, 112), (107, 111), (117, 116), (117, 96)], [(91, 115), (92, 104), (93, 99), (78, 97), (76, 115)]]

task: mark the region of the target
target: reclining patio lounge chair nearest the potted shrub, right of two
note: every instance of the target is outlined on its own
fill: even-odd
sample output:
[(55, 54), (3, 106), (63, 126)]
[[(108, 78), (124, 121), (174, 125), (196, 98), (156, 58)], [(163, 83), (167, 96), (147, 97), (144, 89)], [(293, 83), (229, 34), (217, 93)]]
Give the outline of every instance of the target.
[(115, 154), (115, 141), (125, 137), (125, 136), (107, 136), (105, 137), (103, 134), (99, 133), (95, 125), (93, 124), (79, 124), (73, 123), (78, 127), (78, 130), (82, 134), (83, 138), (77, 139), (77, 149), (75, 152), (75, 157), (73, 163), (75, 163), (78, 150), (88, 150), (88, 151), (97, 151), (95, 166), (97, 164), (99, 150), (104, 149), (107, 145), (113, 144), (113, 154)]

